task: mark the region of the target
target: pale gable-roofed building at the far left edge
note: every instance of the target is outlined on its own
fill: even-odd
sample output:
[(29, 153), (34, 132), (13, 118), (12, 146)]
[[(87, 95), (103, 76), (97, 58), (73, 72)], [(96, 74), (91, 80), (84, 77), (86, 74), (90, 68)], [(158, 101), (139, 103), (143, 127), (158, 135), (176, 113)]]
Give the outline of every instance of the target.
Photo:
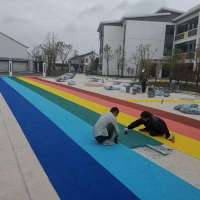
[(32, 72), (32, 56), (28, 47), (0, 32), (0, 73), (9, 71), (9, 63), (13, 72)]

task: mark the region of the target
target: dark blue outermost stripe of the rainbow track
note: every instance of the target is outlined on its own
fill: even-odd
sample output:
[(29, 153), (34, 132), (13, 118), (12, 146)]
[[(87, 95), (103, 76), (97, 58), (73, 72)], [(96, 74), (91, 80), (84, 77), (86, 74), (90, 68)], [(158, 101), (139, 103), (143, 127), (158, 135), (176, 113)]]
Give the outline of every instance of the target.
[(1, 79), (0, 91), (61, 199), (138, 200), (62, 130)]

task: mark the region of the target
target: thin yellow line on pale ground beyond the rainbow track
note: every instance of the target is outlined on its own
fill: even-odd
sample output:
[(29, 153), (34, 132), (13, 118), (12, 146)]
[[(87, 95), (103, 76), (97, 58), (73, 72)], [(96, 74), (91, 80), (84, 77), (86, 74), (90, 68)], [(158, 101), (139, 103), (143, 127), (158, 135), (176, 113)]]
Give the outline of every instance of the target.
[(200, 104), (200, 100), (181, 100), (181, 99), (130, 99), (128, 102), (141, 102), (141, 103), (186, 103), (186, 104)]

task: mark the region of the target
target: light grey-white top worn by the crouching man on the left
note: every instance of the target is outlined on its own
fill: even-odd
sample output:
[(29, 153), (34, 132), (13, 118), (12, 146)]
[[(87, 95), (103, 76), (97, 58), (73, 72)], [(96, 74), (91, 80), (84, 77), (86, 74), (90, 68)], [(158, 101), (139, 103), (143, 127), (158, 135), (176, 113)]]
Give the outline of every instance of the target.
[(107, 131), (106, 127), (109, 124), (113, 124), (113, 126), (115, 127), (116, 136), (119, 135), (120, 131), (119, 131), (116, 117), (111, 112), (109, 112), (109, 113), (102, 115), (96, 122), (96, 124), (94, 126), (94, 136), (95, 137), (108, 136), (108, 131)]

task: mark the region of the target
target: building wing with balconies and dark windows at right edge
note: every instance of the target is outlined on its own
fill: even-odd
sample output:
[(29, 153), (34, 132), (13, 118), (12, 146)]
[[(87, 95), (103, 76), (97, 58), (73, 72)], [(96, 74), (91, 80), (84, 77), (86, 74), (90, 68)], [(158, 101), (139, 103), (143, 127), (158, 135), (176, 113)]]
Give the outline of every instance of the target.
[(196, 49), (200, 47), (200, 5), (173, 19), (174, 53), (184, 60), (180, 71), (190, 75), (196, 68)]

